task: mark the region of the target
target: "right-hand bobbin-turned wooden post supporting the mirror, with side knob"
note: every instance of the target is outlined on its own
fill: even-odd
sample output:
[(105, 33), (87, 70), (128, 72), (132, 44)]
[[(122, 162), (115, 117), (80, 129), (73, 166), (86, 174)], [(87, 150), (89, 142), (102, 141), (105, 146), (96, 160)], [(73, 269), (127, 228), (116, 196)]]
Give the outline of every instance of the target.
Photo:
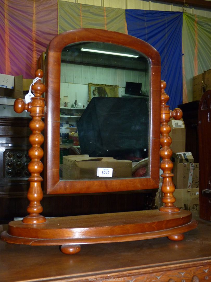
[[(174, 206), (174, 202), (176, 201), (173, 193), (175, 191), (175, 186), (172, 181), (172, 177), (174, 176), (171, 173), (171, 170), (173, 168), (173, 163), (170, 160), (172, 156), (172, 150), (170, 149), (170, 144), (172, 142), (172, 139), (169, 136), (169, 133), (171, 131), (171, 127), (168, 124), (170, 121), (171, 115), (178, 117), (182, 114), (182, 111), (179, 109), (174, 109), (174, 111), (169, 110), (169, 106), (166, 105), (166, 103), (169, 101), (169, 95), (165, 93), (165, 87), (166, 83), (165, 81), (161, 80), (161, 138), (160, 138), (160, 144), (162, 148), (160, 149), (160, 156), (162, 158), (160, 168), (163, 170), (162, 177), (163, 177), (163, 183), (161, 190), (163, 192), (163, 203), (164, 206), (160, 207), (160, 211), (165, 212), (176, 212), (180, 211), (180, 209), (176, 206)], [(181, 116), (182, 117), (182, 116)], [(181, 118), (180, 117), (180, 118)]]

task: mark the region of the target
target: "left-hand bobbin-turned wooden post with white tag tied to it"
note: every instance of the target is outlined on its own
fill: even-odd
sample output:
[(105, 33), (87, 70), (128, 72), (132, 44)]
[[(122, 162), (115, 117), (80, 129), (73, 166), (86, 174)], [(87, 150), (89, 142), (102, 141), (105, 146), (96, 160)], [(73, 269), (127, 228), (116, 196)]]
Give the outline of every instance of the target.
[(28, 190), (28, 200), (30, 201), (27, 211), (29, 215), (24, 217), (23, 223), (36, 224), (46, 222), (46, 218), (40, 213), (43, 208), (40, 201), (43, 197), (41, 188), (41, 181), (43, 180), (40, 173), (43, 170), (43, 164), (40, 161), (43, 157), (43, 150), (40, 147), (44, 142), (44, 136), (41, 131), (44, 129), (44, 122), (41, 118), (44, 116), (45, 99), (42, 98), (42, 94), (45, 92), (45, 85), (41, 82), (43, 71), (38, 69), (35, 71), (35, 77), (39, 80), (32, 85), (32, 92), (35, 95), (30, 103), (25, 104), (22, 99), (16, 99), (14, 103), (14, 110), (17, 113), (22, 113), (24, 110), (30, 112), (32, 120), (29, 127), (32, 130), (32, 134), (29, 136), (29, 141), (32, 147), (29, 149), (29, 156), (31, 162), (28, 164), (28, 170), (31, 173), (28, 181), (30, 181), (30, 187)]

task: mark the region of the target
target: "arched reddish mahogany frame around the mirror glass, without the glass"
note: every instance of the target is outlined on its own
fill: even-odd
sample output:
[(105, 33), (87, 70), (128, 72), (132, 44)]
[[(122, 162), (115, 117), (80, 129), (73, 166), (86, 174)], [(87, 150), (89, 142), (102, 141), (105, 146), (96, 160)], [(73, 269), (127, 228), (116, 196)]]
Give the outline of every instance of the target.
[[(104, 42), (129, 47), (146, 56), (149, 62), (151, 91), (149, 95), (149, 176), (118, 180), (60, 180), (60, 70), (61, 52), (65, 46), (78, 42)], [(141, 39), (107, 30), (86, 28), (70, 30), (55, 36), (46, 52), (46, 114), (44, 181), (47, 194), (102, 193), (157, 189), (160, 168), (160, 54)]]

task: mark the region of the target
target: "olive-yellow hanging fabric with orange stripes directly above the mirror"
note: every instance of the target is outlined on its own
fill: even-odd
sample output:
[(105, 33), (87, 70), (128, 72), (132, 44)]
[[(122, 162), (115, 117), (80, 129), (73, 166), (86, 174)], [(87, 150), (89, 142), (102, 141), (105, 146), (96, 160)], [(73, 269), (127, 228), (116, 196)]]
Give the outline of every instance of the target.
[(125, 10), (58, 1), (59, 33), (77, 28), (100, 28), (127, 34)]

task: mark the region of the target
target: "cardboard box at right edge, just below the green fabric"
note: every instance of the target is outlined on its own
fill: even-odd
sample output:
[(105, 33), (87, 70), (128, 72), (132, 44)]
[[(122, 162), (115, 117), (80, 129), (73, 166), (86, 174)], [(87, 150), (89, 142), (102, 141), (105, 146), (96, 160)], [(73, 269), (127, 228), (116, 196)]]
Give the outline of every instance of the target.
[(208, 89), (211, 89), (211, 69), (193, 77), (193, 101), (200, 100)]

